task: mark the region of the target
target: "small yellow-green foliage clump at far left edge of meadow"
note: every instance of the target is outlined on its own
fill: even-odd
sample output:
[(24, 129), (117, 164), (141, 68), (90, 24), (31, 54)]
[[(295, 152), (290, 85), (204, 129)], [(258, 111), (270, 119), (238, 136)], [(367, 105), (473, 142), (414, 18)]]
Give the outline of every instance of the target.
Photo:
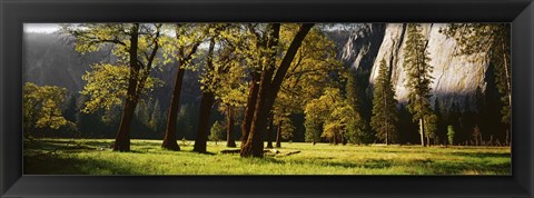
[(22, 91), (24, 133), (34, 132), (36, 128), (59, 129), (71, 123), (61, 112), (67, 89), (26, 82)]

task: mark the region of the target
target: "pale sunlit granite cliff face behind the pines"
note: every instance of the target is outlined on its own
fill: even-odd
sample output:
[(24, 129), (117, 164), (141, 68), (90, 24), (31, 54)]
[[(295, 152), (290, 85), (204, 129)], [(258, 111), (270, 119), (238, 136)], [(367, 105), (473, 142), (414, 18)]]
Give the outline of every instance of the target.
[[(384, 59), (392, 71), (392, 81), (395, 88), (396, 99), (399, 102), (407, 102), (408, 89), (406, 83), (406, 71), (403, 67), (404, 47), (407, 40), (405, 23), (383, 24), (384, 32), (377, 31), (378, 28), (360, 28), (354, 37), (349, 37), (342, 51), (342, 58), (346, 65), (358, 68), (370, 68), (369, 85), (373, 86), (378, 76), (379, 62)], [(433, 97), (432, 101), (438, 100), (449, 107), (452, 102), (463, 105), (467, 97), (473, 106), (474, 92), (477, 87), (485, 89), (485, 77), (488, 66), (483, 56), (454, 56), (457, 52), (458, 44), (453, 38), (447, 38), (439, 32), (439, 29), (446, 28), (446, 23), (425, 23), (422, 26), (422, 33), (427, 39), (426, 50), (429, 53), (431, 66), (434, 67), (432, 77)], [(379, 27), (378, 24), (368, 24), (366, 27)], [(382, 38), (380, 41), (377, 41)], [(379, 49), (376, 55), (369, 47), (362, 43), (362, 40), (379, 42)], [(358, 46), (359, 44), (359, 46)], [(355, 48), (358, 48), (355, 49)], [(370, 55), (369, 55), (370, 53)], [(367, 60), (360, 57), (367, 55)], [(469, 107), (473, 108), (473, 107)]]

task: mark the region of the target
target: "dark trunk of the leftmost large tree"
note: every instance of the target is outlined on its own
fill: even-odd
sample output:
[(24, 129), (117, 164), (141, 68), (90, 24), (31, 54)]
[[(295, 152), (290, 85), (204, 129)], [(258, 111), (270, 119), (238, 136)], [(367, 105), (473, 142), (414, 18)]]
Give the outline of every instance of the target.
[(131, 119), (134, 118), (134, 111), (136, 110), (137, 100), (138, 100), (138, 77), (140, 66), (137, 62), (137, 49), (139, 40), (139, 24), (135, 23), (131, 28), (130, 34), (130, 49), (129, 53), (129, 63), (130, 63), (130, 76), (128, 78), (128, 90), (126, 93), (125, 108), (122, 110), (122, 117), (120, 119), (119, 131), (115, 138), (113, 150), (115, 151), (129, 151), (130, 150), (130, 125)]

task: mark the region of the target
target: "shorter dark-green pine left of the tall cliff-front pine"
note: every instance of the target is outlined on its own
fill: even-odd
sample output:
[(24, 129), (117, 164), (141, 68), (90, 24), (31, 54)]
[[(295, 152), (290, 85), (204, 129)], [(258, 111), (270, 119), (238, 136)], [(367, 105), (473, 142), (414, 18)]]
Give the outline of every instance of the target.
[(389, 145), (396, 137), (395, 123), (397, 118), (397, 100), (395, 99), (395, 91), (389, 79), (389, 69), (386, 61), (380, 61), (378, 78), (375, 85), (373, 98), (373, 117), (370, 118), (370, 126), (377, 132), (377, 137)]

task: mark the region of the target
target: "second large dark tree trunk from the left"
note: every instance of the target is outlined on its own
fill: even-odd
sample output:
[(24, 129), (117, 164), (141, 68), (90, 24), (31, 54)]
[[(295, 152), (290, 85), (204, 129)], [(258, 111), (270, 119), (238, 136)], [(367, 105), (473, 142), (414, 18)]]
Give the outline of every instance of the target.
[(181, 85), (184, 80), (184, 73), (186, 69), (182, 66), (182, 53), (184, 49), (178, 50), (178, 71), (176, 72), (175, 77), (175, 87), (172, 88), (172, 95), (170, 97), (170, 106), (169, 112), (167, 116), (167, 127), (165, 129), (165, 137), (164, 143), (161, 145), (162, 148), (169, 150), (180, 150), (180, 146), (176, 142), (176, 122), (178, 119), (178, 110), (180, 106), (180, 93), (181, 93)]

